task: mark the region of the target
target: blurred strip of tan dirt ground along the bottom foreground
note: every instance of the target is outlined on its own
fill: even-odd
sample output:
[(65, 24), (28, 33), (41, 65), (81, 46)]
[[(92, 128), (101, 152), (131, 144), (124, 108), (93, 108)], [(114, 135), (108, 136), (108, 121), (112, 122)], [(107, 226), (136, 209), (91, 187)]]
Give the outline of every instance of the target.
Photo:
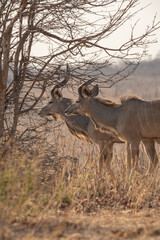
[(100, 210), (87, 215), (45, 216), (1, 226), (1, 240), (160, 239), (160, 209)]

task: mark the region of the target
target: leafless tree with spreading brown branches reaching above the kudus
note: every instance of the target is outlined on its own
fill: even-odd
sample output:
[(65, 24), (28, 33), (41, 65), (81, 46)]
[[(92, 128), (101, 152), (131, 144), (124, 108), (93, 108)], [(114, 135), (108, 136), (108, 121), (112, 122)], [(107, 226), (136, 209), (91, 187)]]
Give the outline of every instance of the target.
[[(47, 86), (72, 65), (72, 84), (96, 77), (110, 86), (135, 69), (153, 42), (160, 23), (154, 18), (140, 36), (117, 48), (109, 39), (140, 11), (138, 0), (2, 0), (0, 5), (0, 138), (14, 137), (19, 116), (32, 110)], [(137, 23), (138, 24), (138, 23)], [(38, 56), (34, 46), (39, 44)], [(47, 46), (46, 55), (41, 48)], [(104, 71), (115, 61), (116, 72)], [(10, 117), (8, 117), (10, 116)], [(9, 120), (8, 120), (9, 119)], [(7, 135), (6, 135), (7, 133)], [(6, 137), (7, 136), (7, 137)]]

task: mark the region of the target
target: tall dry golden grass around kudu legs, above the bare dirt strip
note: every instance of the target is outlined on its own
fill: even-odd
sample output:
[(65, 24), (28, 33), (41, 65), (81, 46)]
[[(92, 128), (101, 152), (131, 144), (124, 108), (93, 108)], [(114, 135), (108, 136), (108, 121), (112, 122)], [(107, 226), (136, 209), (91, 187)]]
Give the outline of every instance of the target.
[[(54, 141), (51, 156), (44, 139), (39, 139), (27, 151), (17, 142), (1, 155), (1, 222), (66, 211), (80, 213), (112, 207), (138, 210), (159, 206), (159, 165), (149, 177), (135, 174), (128, 190), (124, 146), (114, 149), (112, 168), (116, 182), (113, 182), (105, 169), (103, 177), (99, 176), (96, 146), (75, 141), (64, 132), (58, 133)], [(140, 159), (145, 170), (148, 162), (145, 153), (142, 152)]]

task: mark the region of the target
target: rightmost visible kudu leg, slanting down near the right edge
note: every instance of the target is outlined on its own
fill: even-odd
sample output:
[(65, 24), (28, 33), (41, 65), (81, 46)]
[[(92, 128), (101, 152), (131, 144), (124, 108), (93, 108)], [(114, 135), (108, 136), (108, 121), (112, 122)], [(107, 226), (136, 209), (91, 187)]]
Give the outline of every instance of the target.
[(151, 174), (156, 166), (157, 163), (159, 161), (158, 156), (157, 156), (157, 151), (155, 148), (155, 141), (152, 139), (145, 139), (142, 141), (143, 145), (145, 146), (145, 150), (147, 152), (147, 155), (150, 159), (150, 163), (149, 163), (149, 168), (147, 170), (146, 175)]

